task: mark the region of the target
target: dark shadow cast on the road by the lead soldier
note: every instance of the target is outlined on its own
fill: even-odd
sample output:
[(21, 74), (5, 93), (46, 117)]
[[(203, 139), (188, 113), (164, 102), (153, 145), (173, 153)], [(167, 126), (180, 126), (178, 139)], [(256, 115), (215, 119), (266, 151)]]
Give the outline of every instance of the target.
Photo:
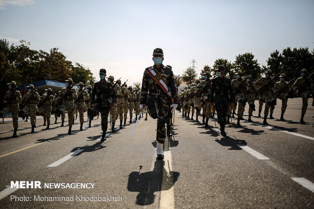
[[(164, 160), (156, 160), (153, 171), (142, 174), (140, 172), (132, 172), (129, 175), (128, 190), (132, 192), (139, 192), (136, 196), (136, 204), (152, 204), (155, 200), (154, 192), (168, 190), (177, 182), (180, 173), (170, 171), (170, 173), (167, 174), (164, 165)], [(167, 174), (165, 175), (167, 182), (171, 182), (171, 178), (173, 178), (172, 184), (168, 183), (162, 187), (163, 173)]]

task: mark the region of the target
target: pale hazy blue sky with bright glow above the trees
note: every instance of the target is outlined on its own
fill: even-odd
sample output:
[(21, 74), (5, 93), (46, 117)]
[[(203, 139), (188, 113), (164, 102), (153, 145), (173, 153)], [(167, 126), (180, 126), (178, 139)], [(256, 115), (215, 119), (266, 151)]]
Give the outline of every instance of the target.
[(0, 38), (31, 49), (56, 47), (68, 60), (128, 85), (141, 81), (164, 51), (176, 75), (195, 59), (199, 71), (218, 58), (252, 53), (259, 64), (274, 50), (314, 48), (314, 1), (0, 0)]

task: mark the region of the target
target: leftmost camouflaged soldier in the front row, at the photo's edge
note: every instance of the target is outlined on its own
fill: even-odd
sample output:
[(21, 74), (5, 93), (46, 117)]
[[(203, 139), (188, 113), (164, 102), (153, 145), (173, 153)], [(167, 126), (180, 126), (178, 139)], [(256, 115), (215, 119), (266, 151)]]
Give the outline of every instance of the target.
[(17, 137), (17, 129), (19, 127), (18, 123), (18, 114), (20, 111), (19, 104), (22, 102), (22, 96), (19, 91), (17, 91), (16, 82), (11, 81), (10, 83), (7, 83), (9, 86), (9, 91), (6, 92), (4, 97), (4, 106), (3, 110), (0, 111), (0, 115), (3, 116), (8, 113), (12, 113), (12, 122), (13, 122), (13, 128), (14, 133), (12, 137)]

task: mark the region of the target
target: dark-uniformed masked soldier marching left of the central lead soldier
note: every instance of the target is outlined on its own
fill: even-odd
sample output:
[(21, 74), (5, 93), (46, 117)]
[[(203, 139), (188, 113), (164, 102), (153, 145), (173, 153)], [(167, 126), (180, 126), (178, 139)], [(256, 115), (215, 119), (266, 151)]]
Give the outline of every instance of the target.
[[(95, 83), (92, 95), (91, 95), (91, 108), (89, 109), (89, 117), (93, 119), (99, 112), (101, 113), (101, 130), (102, 136), (100, 141), (106, 140), (106, 131), (108, 128), (108, 114), (113, 104), (116, 102), (116, 95), (114, 88), (110, 82), (105, 79), (106, 70), (99, 70), (100, 81)], [(111, 99), (111, 103), (110, 103)]]

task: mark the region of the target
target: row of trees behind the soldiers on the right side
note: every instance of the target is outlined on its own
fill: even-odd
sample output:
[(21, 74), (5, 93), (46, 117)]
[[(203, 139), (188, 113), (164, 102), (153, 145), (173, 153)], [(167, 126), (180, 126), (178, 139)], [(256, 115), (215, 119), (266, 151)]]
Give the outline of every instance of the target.
[[(252, 53), (239, 54), (235, 57), (233, 63), (227, 59), (216, 59), (212, 67), (205, 65), (201, 73), (210, 71), (211, 75), (214, 75), (214, 70), (218, 69), (219, 65), (225, 67), (225, 74), (231, 79), (234, 78), (234, 74), (238, 70), (242, 70), (243, 76), (251, 75), (253, 80), (260, 77), (266, 69), (270, 69), (273, 75), (280, 72), (286, 74), (286, 80), (289, 81), (294, 77), (300, 76), (300, 70), (305, 68), (308, 74), (314, 71), (314, 51), (309, 51), (308, 48), (294, 48), (290, 47), (284, 49), (282, 52), (278, 50), (270, 53), (268, 57), (267, 65), (260, 65)], [(200, 74), (200, 77), (203, 75)], [(188, 67), (183, 71), (182, 80), (190, 85), (198, 78), (198, 73), (195, 69)]]

